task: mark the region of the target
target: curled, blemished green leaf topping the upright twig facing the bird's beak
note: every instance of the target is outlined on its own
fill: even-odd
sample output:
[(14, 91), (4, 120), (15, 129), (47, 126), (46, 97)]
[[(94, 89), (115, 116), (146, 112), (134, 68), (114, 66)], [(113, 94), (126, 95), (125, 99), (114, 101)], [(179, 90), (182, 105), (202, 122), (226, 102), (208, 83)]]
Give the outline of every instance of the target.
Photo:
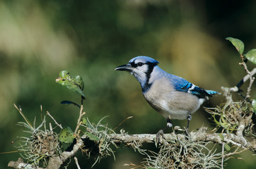
[(57, 77), (56, 82), (85, 97), (83, 93), (83, 79), (79, 75), (73, 77), (67, 70), (62, 70), (59, 73), (59, 77)]

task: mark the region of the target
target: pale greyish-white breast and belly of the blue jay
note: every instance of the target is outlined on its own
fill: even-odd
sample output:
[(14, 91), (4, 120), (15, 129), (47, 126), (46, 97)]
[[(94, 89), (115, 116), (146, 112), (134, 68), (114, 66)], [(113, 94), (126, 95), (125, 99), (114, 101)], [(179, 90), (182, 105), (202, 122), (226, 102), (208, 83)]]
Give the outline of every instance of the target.
[(165, 118), (184, 120), (187, 115), (197, 111), (204, 99), (198, 99), (187, 92), (177, 92), (165, 77), (153, 82), (148, 92), (144, 93), (146, 101)]

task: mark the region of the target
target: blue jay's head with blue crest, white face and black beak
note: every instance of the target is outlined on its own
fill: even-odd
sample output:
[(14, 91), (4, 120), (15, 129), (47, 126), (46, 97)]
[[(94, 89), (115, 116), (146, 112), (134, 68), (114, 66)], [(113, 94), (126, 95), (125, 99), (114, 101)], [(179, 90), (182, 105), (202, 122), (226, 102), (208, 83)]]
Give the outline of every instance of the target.
[(149, 82), (153, 68), (158, 65), (158, 61), (148, 56), (137, 56), (132, 58), (126, 65), (120, 65), (115, 70), (127, 71), (134, 75), (136, 79), (144, 86)]

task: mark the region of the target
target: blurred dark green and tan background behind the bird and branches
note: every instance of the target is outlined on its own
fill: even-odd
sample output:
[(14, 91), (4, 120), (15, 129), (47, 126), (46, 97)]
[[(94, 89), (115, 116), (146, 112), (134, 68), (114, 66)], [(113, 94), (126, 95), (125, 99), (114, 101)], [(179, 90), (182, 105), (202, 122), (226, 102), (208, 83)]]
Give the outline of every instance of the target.
[[(135, 56), (151, 56), (168, 73), (184, 77), (206, 89), (221, 91), (245, 75), (238, 65), (238, 52), (226, 41), (235, 37), (245, 43), (245, 52), (256, 44), (256, 1), (0, 1), (0, 149), (15, 151), (11, 144), (22, 136), (23, 121), (13, 104), (40, 123), (40, 105), (74, 129), (78, 108), (62, 100), (80, 102), (80, 96), (55, 82), (61, 70), (81, 75), (85, 82), (86, 116), (129, 134), (154, 134), (165, 119), (153, 111), (141, 94), (139, 82), (129, 73), (116, 72), (118, 65)], [(254, 65), (248, 63), (249, 69)], [(246, 86), (244, 86), (245, 89)], [(255, 95), (254, 89), (252, 96)], [(238, 98), (238, 97), (237, 97)], [(209, 104), (225, 101), (215, 96)], [(193, 115), (190, 130), (211, 126), (210, 115), (201, 108)], [(52, 120), (47, 117), (47, 122)], [(186, 121), (174, 120), (185, 126)], [(169, 130), (170, 132), (171, 130)], [(149, 146), (153, 147), (153, 146)], [(152, 148), (153, 149), (153, 148)], [(0, 168), (16, 161), (19, 154), (1, 154)], [(253, 168), (255, 157), (232, 159), (226, 168)], [(94, 159), (78, 155), (81, 168), (91, 168)], [(94, 168), (129, 168), (142, 156), (131, 149), (117, 149), (116, 161), (104, 158)], [(71, 161), (69, 168), (76, 168)]]

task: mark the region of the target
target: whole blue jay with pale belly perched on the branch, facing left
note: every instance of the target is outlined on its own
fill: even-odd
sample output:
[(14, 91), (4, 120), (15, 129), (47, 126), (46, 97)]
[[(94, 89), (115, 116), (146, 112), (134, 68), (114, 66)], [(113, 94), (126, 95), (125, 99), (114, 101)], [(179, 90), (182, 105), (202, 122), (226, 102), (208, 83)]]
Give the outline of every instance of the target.
[[(115, 70), (128, 71), (141, 84), (146, 101), (167, 120), (167, 126), (172, 127), (170, 119), (187, 119), (187, 132), (192, 113), (216, 94), (213, 90), (205, 90), (188, 82), (182, 77), (166, 73), (158, 67), (158, 61), (148, 56), (132, 58), (126, 65), (120, 65)], [(163, 130), (158, 134), (163, 135)]]

